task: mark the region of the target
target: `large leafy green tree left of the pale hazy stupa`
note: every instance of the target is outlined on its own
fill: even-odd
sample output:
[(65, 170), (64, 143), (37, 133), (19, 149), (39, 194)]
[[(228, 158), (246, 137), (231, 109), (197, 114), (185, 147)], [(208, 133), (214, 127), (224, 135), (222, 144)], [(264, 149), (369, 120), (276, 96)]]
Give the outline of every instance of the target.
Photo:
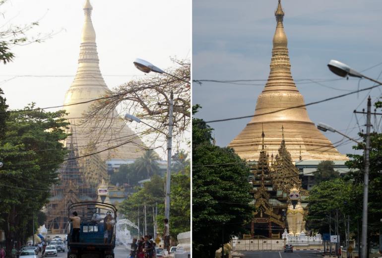
[(57, 169), (67, 154), (65, 112), (44, 112), (26, 107), (10, 113), (0, 141), (0, 228), (6, 248), (25, 243), (31, 235), (32, 214), (48, 202), (50, 188), (58, 183)]

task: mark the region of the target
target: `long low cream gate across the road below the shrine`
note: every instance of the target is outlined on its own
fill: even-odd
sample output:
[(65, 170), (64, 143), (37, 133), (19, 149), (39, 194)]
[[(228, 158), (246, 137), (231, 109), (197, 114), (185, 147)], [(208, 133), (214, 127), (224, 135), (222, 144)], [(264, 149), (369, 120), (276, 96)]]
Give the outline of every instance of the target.
[(233, 251), (283, 250), (282, 239), (233, 239)]

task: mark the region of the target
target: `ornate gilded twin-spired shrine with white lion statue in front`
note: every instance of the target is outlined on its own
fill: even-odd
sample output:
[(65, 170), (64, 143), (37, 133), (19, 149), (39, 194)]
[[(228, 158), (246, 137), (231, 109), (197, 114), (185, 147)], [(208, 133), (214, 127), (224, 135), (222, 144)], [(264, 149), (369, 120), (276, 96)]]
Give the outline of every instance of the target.
[(261, 133), (261, 150), (257, 164), (252, 165), (250, 184), (254, 195), (255, 213), (251, 222), (251, 237), (281, 238), (284, 229), (291, 235), (305, 230), (304, 216), (308, 196), (301, 189), (299, 171), (292, 162), (281, 128), (282, 140), (275, 156), (269, 156)]

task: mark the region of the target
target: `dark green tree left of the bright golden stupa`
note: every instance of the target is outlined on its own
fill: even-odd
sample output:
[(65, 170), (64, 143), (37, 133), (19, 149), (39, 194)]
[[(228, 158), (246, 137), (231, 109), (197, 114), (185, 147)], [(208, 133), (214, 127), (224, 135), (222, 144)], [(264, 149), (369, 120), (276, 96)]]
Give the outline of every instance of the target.
[(192, 254), (199, 258), (214, 258), (222, 238), (245, 233), (254, 211), (248, 166), (232, 148), (214, 146), (211, 130), (192, 119)]

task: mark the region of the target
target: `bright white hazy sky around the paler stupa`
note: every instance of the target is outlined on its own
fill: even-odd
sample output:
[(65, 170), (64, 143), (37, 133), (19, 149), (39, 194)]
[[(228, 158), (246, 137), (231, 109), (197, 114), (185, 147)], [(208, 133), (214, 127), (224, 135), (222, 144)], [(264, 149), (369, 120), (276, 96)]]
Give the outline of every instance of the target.
[[(38, 107), (63, 104), (77, 69), (84, 2), (8, 0), (2, 6), (1, 24), (6, 24), (2, 28), (39, 20), (40, 26), (27, 35), (55, 34), (43, 43), (13, 48), (14, 62), (1, 65), (0, 87), (11, 109), (32, 101)], [(91, 4), (101, 73), (109, 88), (144, 76), (132, 64), (136, 58), (161, 68), (173, 65), (170, 57), (191, 58), (190, 0), (91, 0)], [(25, 75), (42, 77), (21, 77)]]

